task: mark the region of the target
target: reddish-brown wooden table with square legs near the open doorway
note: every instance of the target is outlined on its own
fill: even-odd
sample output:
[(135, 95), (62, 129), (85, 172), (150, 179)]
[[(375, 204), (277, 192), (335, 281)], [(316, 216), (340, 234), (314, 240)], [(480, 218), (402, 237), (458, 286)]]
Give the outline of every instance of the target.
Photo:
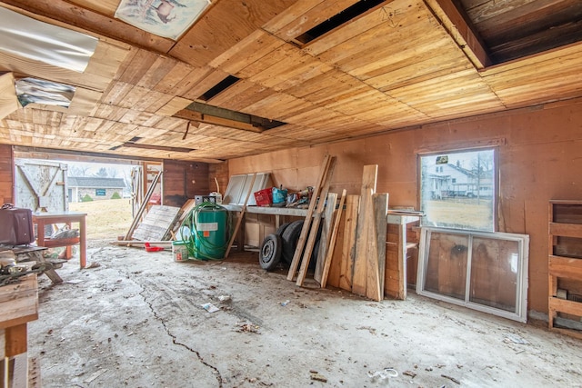
[[(86, 265), (86, 239), (85, 239), (85, 217), (86, 213), (80, 212), (62, 212), (62, 213), (34, 213), (33, 223), (37, 225), (36, 244), (38, 246), (45, 246), (46, 248), (54, 248), (57, 246), (70, 247), (71, 245), (79, 244), (79, 258), (81, 262), (81, 269)], [(75, 238), (61, 238), (61, 239), (46, 239), (45, 225), (47, 224), (79, 224), (79, 237)]]

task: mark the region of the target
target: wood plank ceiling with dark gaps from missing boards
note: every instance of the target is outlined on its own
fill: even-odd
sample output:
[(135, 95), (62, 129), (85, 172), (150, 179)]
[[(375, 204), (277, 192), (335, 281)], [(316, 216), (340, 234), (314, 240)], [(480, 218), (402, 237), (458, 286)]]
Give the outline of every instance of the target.
[[(115, 19), (119, 0), (0, 0), (99, 38), (84, 74), (0, 55), (0, 71), (78, 90), (68, 110), (0, 120), (0, 143), (214, 162), (582, 96), (578, 0), (368, 3), (305, 43), (372, 1), (213, 0), (173, 41)], [(226, 118), (185, 110), (195, 102)], [(247, 130), (229, 114), (285, 124)]]

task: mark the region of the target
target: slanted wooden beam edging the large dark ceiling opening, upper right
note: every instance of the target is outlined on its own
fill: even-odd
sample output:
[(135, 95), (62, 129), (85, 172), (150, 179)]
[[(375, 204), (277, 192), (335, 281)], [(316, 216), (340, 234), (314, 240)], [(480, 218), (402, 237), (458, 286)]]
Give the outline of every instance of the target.
[(457, 45), (463, 50), (469, 60), (478, 70), (493, 65), (487, 49), (481, 45), (475, 33), (463, 15), (458, 11), (452, 0), (424, 0), (428, 9), (433, 12), (438, 21), (445, 27)]

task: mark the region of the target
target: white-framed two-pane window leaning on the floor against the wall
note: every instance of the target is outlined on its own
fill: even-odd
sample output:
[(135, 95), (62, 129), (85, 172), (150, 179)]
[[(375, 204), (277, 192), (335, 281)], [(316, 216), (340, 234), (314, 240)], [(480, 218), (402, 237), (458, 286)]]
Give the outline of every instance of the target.
[(527, 234), (422, 228), (416, 293), (527, 321)]

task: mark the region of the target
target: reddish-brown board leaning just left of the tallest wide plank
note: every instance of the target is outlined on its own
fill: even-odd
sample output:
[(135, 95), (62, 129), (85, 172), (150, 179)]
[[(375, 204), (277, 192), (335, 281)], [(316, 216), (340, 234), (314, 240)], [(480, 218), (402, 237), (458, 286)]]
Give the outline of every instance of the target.
[(354, 261), (356, 258), (356, 230), (357, 209), (360, 205), (360, 196), (350, 194), (346, 197), (346, 222), (344, 223), (344, 242), (339, 271), (339, 288), (352, 291), (354, 276)]

